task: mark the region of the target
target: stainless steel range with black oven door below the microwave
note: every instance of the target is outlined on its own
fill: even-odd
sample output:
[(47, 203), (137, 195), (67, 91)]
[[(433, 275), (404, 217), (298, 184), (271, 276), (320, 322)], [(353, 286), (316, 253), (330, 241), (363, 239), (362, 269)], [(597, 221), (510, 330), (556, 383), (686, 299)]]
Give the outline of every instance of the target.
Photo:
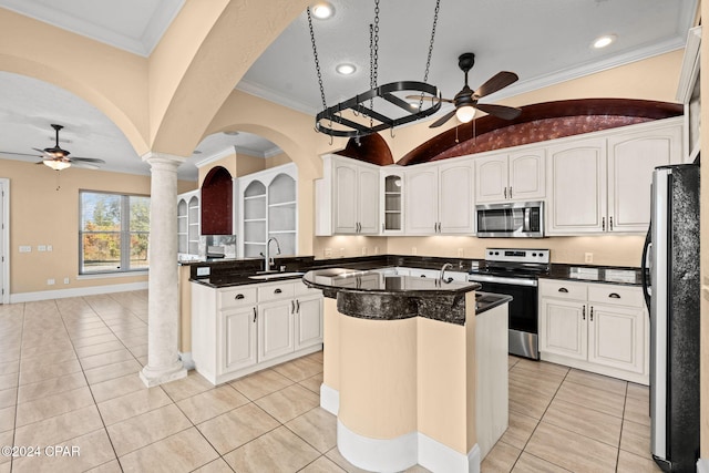
[(548, 249), (487, 248), (485, 264), (469, 271), (467, 280), (485, 292), (512, 296), (510, 302), (510, 353), (540, 359), (540, 275), (548, 274)]

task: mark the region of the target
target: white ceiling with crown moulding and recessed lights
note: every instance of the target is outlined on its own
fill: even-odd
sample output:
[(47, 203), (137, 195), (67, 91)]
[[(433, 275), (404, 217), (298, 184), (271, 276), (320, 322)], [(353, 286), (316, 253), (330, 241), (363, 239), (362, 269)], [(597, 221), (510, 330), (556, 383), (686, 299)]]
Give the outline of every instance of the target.
[[(0, 8), (146, 56), (184, 1), (0, 0)], [(370, 89), (369, 24), (374, 6), (330, 2), (335, 18), (314, 20), (328, 106)], [(381, 1), (379, 84), (423, 80), (434, 6), (435, 0)], [(481, 101), (494, 102), (682, 48), (696, 11), (697, 0), (441, 0), (428, 82), (452, 97), (463, 86), (458, 56), (473, 52), (471, 88), (501, 70), (520, 75), (517, 83)], [(600, 34), (615, 34), (617, 41), (594, 50), (590, 43)], [(356, 64), (357, 73), (337, 74), (340, 62)], [(309, 114), (322, 109), (305, 12), (235, 85)], [(60, 144), (73, 156), (103, 158), (102, 168), (109, 171), (147, 174), (125, 136), (92, 105), (53, 85), (0, 72), (0, 151), (32, 153), (32, 147), (51, 146), (51, 123), (65, 126), (60, 137), (71, 143)], [(181, 166), (181, 178), (196, 179), (195, 163), (234, 146), (255, 156), (278, 152), (273, 143), (247, 133), (208, 136), (197, 147), (202, 154)]]

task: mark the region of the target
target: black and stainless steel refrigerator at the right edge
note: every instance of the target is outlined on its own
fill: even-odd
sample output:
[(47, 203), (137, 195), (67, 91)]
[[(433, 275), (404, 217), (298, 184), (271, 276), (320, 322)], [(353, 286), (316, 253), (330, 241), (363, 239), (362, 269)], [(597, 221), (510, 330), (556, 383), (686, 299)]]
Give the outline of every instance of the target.
[(643, 286), (650, 312), (650, 450), (664, 471), (695, 472), (699, 457), (699, 166), (657, 167), (651, 195), (650, 229), (643, 251)]

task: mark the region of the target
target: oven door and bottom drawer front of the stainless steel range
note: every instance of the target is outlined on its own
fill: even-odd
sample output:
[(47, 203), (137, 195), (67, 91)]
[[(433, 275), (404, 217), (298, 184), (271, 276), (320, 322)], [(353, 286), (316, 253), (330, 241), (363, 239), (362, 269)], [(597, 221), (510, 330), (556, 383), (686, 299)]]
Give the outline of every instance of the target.
[(469, 280), (480, 282), (481, 291), (512, 296), (508, 305), (510, 353), (540, 359), (537, 281), (525, 278), (502, 278), (470, 275)]

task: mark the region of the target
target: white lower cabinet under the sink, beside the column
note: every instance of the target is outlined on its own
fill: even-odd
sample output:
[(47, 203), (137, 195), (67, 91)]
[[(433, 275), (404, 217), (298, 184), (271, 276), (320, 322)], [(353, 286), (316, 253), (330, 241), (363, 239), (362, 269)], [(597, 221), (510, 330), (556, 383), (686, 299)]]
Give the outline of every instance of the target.
[(322, 348), (322, 294), (300, 280), (192, 286), (192, 356), (214, 384)]

